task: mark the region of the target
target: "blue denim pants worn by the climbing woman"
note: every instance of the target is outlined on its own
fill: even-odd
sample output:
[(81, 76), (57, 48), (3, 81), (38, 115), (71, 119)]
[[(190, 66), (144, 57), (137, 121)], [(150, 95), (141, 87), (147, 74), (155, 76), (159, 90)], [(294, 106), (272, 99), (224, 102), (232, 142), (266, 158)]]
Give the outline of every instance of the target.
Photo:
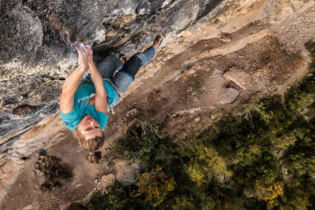
[(121, 96), (130, 87), (139, 68), (145, 67), (156, 54), (157, 46), (152, 45), (147, 50), (134, 54), (126, 63), (114, 55), (109, 55), (97, 65), (97, 69)]

